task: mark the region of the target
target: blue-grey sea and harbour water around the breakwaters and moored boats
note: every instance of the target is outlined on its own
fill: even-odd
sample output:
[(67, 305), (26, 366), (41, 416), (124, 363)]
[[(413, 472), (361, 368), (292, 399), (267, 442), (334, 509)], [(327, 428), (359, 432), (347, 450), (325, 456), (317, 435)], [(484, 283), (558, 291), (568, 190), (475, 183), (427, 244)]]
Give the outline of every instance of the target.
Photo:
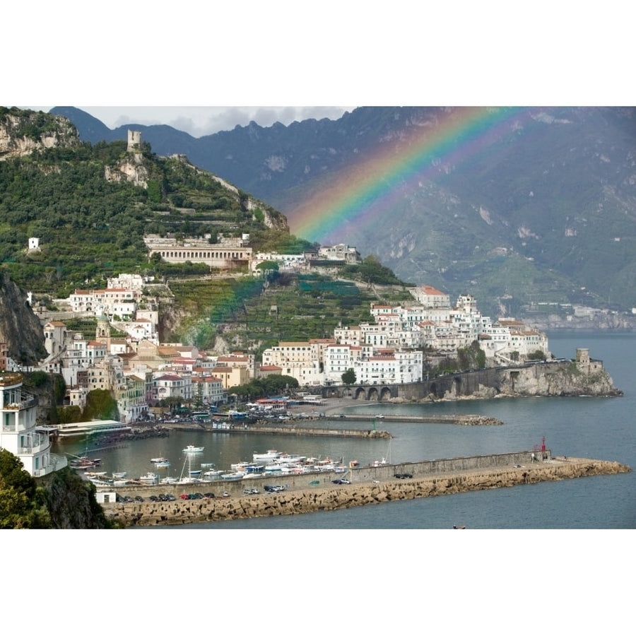
[[(599, 351), (617, 387), (629, 386), (632, 360), (628, 351), (633, 349), (636, 336), (632, 334), (588, 334), (573, 333), (569, 336), (550, 336), (556, 353), (573, 350), (575, 346), (589, 344)], [(587, 340), (591, 338), (591, 340)], [(268, 449), (278, 449), (289, 454), (310, 457), (341, 458), (348, 466), (353, 459), (360, 466), (380, 464), (391, 466), (415, 459), (435, 459), (440, 457), (467, 457), (481, 453), (508, 452), (510, 448), (529, 447), (541, 442), (545, 434), (555, 452), (574, 457), (601, 457), (617, 459), (632, 465), (634, 428), (630, 413), (633, 411), (634, 396), (629, 391), (620, 398), (601, 397), (536, 397), (505, 399), (464, 399), (459, 401), (436, 401), (428, 404), (384, 404), (368, 401), (346, 401), (338, 411), (334, 411), (330, 400), (325, 407), (331, 416), (323, 433), (331, 430), (338, 435), (297, 435), (295, 432), (281, 431), (273, 437), (266, 430), (241, 432), (232, 430), (204, 430), (201, 426), (175, 424), (165, 437), (148, 436), (134, 442), (112, 440), (106, 436), (90, 436), (87, 440), (69, 438), (56, 442), (56, 452), (69, 457), (87, 456), (101, 458), (99, 468), (88, 471), (126, 471), (128, 476), (143, 475), (148, 471), (148, 458), (165, 457), (172, 466), (161, 471), (162, 479), (174, 483), (179, 481), (184, 454), (182, 449), (192, 444), (204, 447), (201, 454), (192, 455), (193, 469), (201, 464), (213, 464), (201, 469), (201, 483), (178, 485), (178, 493), (188, 493), (190, 488), (199, 488), (201, 493), (211, 490), (230, 492), (232, 488), (243, 488), (249, 481), (228, 482), (218, 478), (230, 472), (230, 464), (253, 461), (254, 453), (264, 453)], [(345, 418), (335, 418), (336, 413), (345, 413)], [(365, 431), (370, 429), (368, 418), (384, 414), (382, 429), (387, 437), (372, 438), (340, 435), (342, 430)], [(495, 426), (449, 426), (450, 418), (457, 416), (483, 416), (495, 418), (502, 425)], [(364, 418), (363, 418), (364, 416)], [(412, 418), (425, 416), (435, 421)], [(379, 422), (380, 420), (378, 420)], [(303, 428), (305, 424), (297, 426)], [(310, 423), (307, 428), (314, 428)], [(379, 427), (378, 427), (379, 428)], [(102, 439), (101, 437), (104, 437)], [(88, 444), (88, 448), (87, 448)], [(529, 444), (529, 446), (528, 446)], [(208, 471), (216, 475), (205, 475)], [(155, 471), (158, 472), (158, 471)], [(330, 474), (330, 473), (327, 473)], [(333, 474), (333, 473), (331, 473)], [(213, 478), (212, 483), (208, 479)], [(308, 476), (309, 481), (324, 483), (325, 474)], [(435, 501), (422, 500), (401, 502), (404, 514), (396, 516), (392, 506), (354, 507), (338, 510), (329, 515), (298, 515), (276, 519), (236, 519), (232, 527), (237, 528), (331, 528), (343, 525), (360, 528), (449, 528), (453, 523), (471, 528), (627, 528), (636, 527), (633, 508), (628, 506), (632, 499), (634, 473), (593, 478), (591, 480), (565, 480), (560, 483), (536, 484), (532, 488), (484, 490), (481, 493), (456, 497), (437, 498)], [(296, 477), (290, 473), (268, 474), (264, 478), (276, 479), (293, 485), (305, 476)], [(331, 479), (331, 476), (329, 477)], [(117, 480), (117, 491), (126, 492), (128, 487)], [(127, 480), (125, 480), (127, 481)], [(257, 478), (259, 483), (260, 479)], [(161, 483), (161, 482), (160, 482)], [(163, 486), (167, 488), (170, 484)], [(313, 484), (317, 486), (318, 484)], [(136, 485), (136, 488), (141, 486)], [(149, 492), (161, 493), (162, 486), (148, 486)], [(466, 497), (468, 497), (466, 499)], [(573, 507), (572, 500), (589, 502), (584, 512)], [(449, 525), (450, 520), (450, 525)], [(204, 524), (205, 526), (206, 524)]]

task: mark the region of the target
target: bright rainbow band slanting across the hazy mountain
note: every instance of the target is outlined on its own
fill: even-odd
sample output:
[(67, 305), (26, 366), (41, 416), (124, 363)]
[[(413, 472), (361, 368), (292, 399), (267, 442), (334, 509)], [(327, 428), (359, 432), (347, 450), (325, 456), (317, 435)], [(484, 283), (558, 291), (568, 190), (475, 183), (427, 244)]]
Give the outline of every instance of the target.
[(461, 107), (441, 110), (433, 126), (413, 126), (404, 151), (386, 143), (375, 155), (336, 175), (319, 192), (288, 213), (290, 231), (301, 238), (346, 242), (343, 230), (364, 225), (419, 182), (434, 179), (440, 165), (468, 160), (488, 148), (524, 114), (517, 107)]

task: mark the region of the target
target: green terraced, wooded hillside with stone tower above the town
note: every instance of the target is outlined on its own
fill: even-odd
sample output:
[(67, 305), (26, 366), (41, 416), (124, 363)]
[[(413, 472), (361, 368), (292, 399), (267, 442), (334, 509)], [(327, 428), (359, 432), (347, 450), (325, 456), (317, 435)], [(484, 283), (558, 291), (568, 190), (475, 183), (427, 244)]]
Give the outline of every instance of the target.
[[(36, 142), (54, 129), (52, 116), (6, 109), (0, 110), (0, 126), (16, 113), (40, 126), (28, 128)], [(20, 125), (19, 134), (24, 130)], [(155, 276), (167, 281), (148, 292), (149, 302), (169, 308), (164, 339), (211, 348), (223, 336), (232, 346), (256, 351), (278, 340), (330, 336), (338, 324), (368, 320), (370, 300), (411, 298), (375, 257), (347, 266), (347, 280), (339, 281), (276, 270), (265, 279), (247, 271), (211, 277), (203, 264), (149, 260), (143, 236), (168, 233), (210, 235), (211, 242), (220, 234), (248, 233), (254, 251), (316, 247), (290, 235), (284, 216), (271, 206), (183, 156), (155, 155), (147, 143), (130, 153), (124, 141), (93, 145), (71, 135), (59, 146), (0, 160), (0, 269), (51, 307), (78, 288), (104, 288), (106, 278), (119, 273)], [(30, 237), (39, 239), (40, 249), (27, 249)]]

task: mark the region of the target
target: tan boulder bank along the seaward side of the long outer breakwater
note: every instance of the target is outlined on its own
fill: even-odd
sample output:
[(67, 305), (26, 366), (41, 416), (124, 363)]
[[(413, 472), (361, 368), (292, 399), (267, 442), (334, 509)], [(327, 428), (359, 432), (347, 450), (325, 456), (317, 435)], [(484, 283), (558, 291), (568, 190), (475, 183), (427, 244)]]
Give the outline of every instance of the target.
[(471, 490), (507, 488), (514, 485), (563, 479), (628, 473), (616, 461), (563, 457), (528, 466), (493, 467), (438, 473), (406, 480), (327, 485), (285, 490), (280, 493), (174, 502), (105, 504), (104, 510), (123, 527), (177, 526), (204, 522), (272, 517), (379, 504), (391, 501), (465, 493)]

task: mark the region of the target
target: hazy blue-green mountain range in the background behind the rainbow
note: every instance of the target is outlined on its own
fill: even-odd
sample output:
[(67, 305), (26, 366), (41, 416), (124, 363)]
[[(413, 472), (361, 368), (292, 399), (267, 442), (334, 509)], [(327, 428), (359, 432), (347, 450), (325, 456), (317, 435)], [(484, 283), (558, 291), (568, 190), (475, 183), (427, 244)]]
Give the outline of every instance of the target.
[(268, 201), (300, 237), (355, 245), (490, 314), (636, 306), (633, 107), (481, 109), (481, 129), (464, 125), (475, 109), (360, 107), (199, 139), (63, 111), (83, 140), (139, 129), (155, 152)]

